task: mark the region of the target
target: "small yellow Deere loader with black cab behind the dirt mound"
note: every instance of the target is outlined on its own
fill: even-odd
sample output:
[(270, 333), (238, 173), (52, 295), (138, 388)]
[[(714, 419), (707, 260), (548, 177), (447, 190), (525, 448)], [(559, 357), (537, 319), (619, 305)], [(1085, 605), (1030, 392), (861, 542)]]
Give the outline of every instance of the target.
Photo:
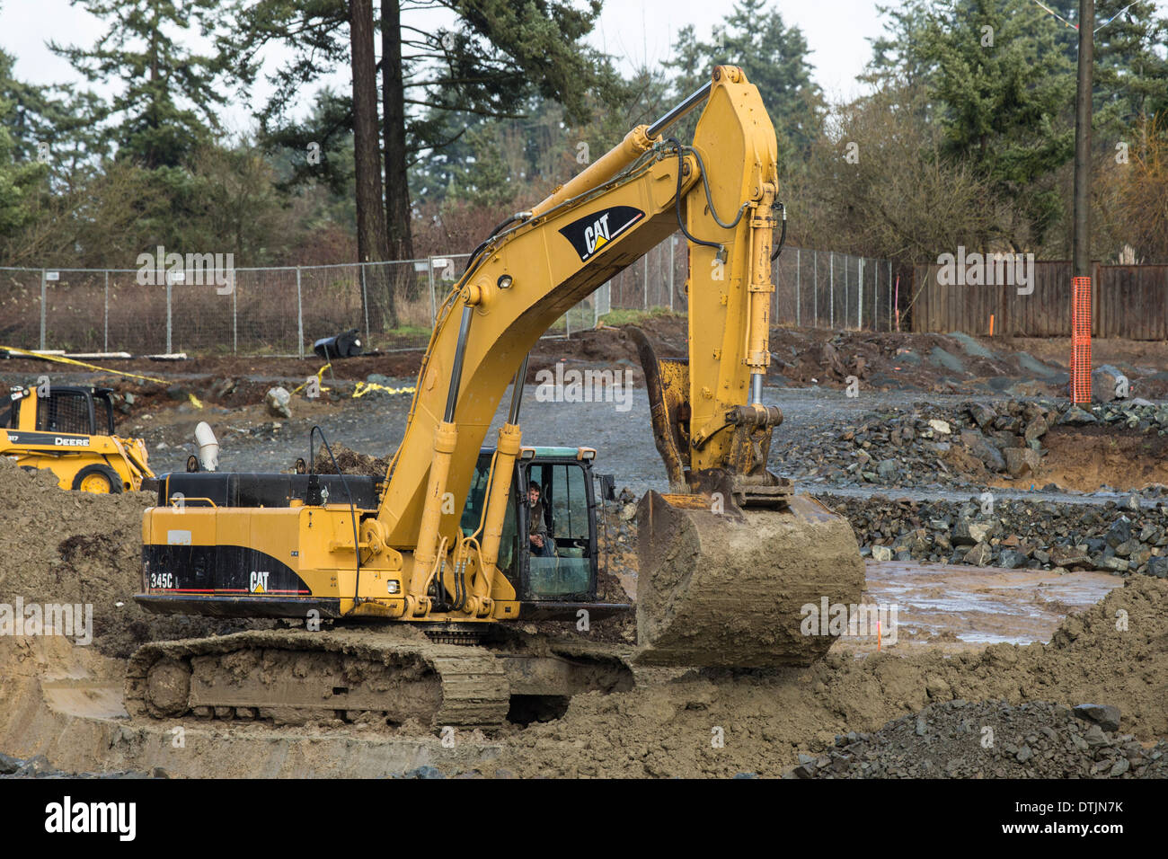
[(154, 473), (140, 438), (113, 432), (110, 388), (14, 387), (0, 408), (0, 456), (26, 469), (48, 469), (63, 490), (138, 491)]

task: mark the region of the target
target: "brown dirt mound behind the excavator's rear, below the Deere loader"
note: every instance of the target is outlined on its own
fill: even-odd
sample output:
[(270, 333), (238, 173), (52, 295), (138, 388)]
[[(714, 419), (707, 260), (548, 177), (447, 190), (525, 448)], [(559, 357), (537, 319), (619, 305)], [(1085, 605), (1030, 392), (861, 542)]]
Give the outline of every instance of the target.
[(91, 605), (93, 645), (119, 657), (152, 638), (189, 638), (229, 626), (210, 618), (147, 615), (133, 601), (141, 590), (142, 511), (154, 504), (152, 493), (67, 492), (50, 472), (27, 472), (8, 459), (0, 459), (0, 602)]

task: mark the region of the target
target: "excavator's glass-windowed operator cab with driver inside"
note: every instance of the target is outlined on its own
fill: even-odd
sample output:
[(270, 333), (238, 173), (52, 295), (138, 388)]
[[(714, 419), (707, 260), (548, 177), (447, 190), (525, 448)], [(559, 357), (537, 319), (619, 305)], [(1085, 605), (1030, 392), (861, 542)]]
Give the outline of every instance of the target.
[[(486, 503), (494, 448), (484, 448), (475, 464), (466, 506), (464, 535), (474, 533)], [(524, 608), (543, 614), (556, 603), (591, 603), (597, 590), (597, 527), (590, 448), (523, 448), (512, 480), (499, 546), (499, 569), (515, 588)], [(540, 487), (533, 507), (527, 487)], [(531, 517), (543, 519), (550, 552), (533, 552), (527, 535)], [(527, 611), (524, 611), (527, 615)]]

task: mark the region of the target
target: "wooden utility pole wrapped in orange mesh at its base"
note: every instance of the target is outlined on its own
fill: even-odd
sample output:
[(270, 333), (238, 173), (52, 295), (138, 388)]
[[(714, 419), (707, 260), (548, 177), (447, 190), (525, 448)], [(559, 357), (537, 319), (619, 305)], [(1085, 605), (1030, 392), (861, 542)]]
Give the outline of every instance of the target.
[(1091, 84), (1094, 0), (1079, 0), (1075, 95), (1075, 215), (1071, 236), (1071, 401), (1091, 404)]

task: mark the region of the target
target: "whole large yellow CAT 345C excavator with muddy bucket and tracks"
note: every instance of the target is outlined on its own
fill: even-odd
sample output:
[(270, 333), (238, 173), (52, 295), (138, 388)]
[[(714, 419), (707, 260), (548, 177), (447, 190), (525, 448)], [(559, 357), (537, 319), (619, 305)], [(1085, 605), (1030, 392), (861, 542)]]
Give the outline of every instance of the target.
[[(696, 109), (690, 145), (666, 137)], [(776, 150), (758, 89), (722, 65), (495, 228), (440, 309), (383, 480), (162, 476), (142, 521), (138, 603), (304, 623), (144, 645), (126, 681), (131, 713), (491, 728), (524, 707), (628, 688), (635, 663), (821, 657), (833, 639), (801, 633), (804, 609), (858, 602), (863, 563), (844, 519), (766, 467), (781, 421), (762, 393), (781, 210)], [(579, 631), (628, 609), (596, 600), (596, 452), (526, 446), (520, 400), (536, 340), (679, 229), (689, 360), (660, 361), (641, 338), (670, 491), (640, 501), (638, 643), (626, 652)], [(508, 383), (507, 420), (484, 448)], [(314, 463), (311, 448), (312, 437)], [(543, 518), (543, 552), (524, 539), (533, 517)], [(514, 622), (533, 619), (576, 626), (556, 639), (521, 635)]]

